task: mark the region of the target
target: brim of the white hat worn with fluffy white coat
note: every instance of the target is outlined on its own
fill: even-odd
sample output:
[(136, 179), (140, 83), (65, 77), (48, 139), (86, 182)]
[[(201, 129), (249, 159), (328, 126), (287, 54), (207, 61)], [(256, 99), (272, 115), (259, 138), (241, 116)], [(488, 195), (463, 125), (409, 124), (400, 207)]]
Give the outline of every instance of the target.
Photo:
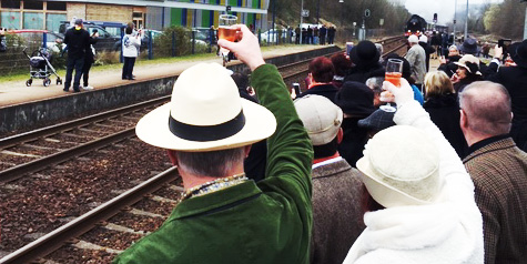
[(374, 176), (375, 173), (372, 170), (366, 156), (363, 156), (357, 161), (357, 169), (362, 172), (359, 179), (368, 190), (369, 195), (372, 195), (372, 197), (377, 203), (386, 209), (395, 206), (432, 204), (432, 202), (413, 197), (395, 187), (387, 185), (382, 181), (378, 181)]

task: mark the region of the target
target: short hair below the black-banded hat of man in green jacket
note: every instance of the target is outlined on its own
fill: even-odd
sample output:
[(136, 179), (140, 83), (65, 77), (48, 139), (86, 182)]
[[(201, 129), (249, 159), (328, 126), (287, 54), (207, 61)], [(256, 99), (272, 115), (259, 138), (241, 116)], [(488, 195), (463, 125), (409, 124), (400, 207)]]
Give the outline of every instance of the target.
[(229, 171), (243, 163), (244, 146), (209, 152), (183, 152), (176, 151), (180, 169), (194, 175), (202, 176), (231, 176)]

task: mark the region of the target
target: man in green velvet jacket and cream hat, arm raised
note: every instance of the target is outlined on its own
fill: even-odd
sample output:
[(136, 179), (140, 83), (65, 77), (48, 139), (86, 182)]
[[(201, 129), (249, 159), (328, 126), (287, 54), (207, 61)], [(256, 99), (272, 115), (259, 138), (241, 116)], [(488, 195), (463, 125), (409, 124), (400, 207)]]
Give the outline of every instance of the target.
[[(308, 263), (310, 138), (277, 69), (265, 64), (254, 34), (236, 28), (239, 42), (219, 44), (251, 68), (251, 85), (265, 108), (240, 99), (219, 64), (180, 75), (172, 102), (146, 114), (136, 133), (169, 150), (186, 194), (156, 232), (114, 263)], [(266, 176), (256, 184), (244, 176), (243, 159), (265, 138)]]

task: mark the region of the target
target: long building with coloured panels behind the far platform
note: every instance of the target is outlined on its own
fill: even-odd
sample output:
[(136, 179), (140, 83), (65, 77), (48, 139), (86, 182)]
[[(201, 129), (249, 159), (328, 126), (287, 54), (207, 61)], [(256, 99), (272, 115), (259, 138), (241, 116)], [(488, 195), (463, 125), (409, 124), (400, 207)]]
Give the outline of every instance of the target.
[(170, 26), (217, 27), (227, 6), (239, 22), (266, 30), (270, 0), (0, 0), (0, 27), (58, 31), (61, 21), (128, 23), (162, 30)]

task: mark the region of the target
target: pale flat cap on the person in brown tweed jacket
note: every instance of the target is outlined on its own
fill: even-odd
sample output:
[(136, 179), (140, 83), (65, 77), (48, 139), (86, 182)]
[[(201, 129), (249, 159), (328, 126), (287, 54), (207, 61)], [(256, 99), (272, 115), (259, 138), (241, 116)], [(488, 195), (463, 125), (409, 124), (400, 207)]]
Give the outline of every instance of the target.
[(313, 145), (327, 144), (338, 134), (343, 112), (330, 99), (310, 94), (296, 99), (295, 109)]

